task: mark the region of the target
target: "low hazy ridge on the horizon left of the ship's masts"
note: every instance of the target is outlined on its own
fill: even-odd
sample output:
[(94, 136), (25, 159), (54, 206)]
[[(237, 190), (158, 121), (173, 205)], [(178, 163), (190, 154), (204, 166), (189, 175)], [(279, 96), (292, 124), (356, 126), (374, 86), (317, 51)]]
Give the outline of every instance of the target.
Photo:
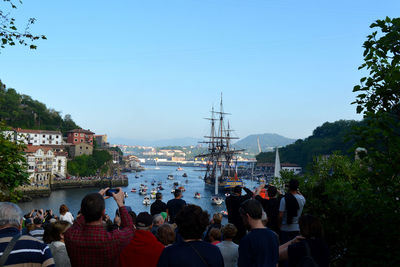
[(196, 146), (202, 139), (184, 137), (184, 138), (172, 138), (172, 139), (160, 139), (160, 140), (140, 140), (140, 139), (128, 139), (128, 138), (109, 138), (111, 144), (124, 144), (131, 146), (152, 146), (152, 147), (164, 147), (164, 146)]

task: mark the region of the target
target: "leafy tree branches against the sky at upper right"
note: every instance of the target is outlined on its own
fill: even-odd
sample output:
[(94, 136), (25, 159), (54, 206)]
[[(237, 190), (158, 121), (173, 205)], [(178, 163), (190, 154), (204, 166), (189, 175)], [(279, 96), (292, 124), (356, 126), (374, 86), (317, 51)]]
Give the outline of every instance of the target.
[(359, 92), (357, 113), (364, 116), (390, 112), (400, 101), (400, 18), (377, 20), (370, 28), (378, 28), (364, 42), (364, 63), (368, 77), (361, 78), (361, 85), (354, 86)]

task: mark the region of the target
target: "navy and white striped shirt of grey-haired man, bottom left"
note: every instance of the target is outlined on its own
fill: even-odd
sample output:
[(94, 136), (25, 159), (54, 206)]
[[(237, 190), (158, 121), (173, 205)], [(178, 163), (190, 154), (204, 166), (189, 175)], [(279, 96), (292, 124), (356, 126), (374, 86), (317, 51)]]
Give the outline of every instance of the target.
[[(3, 251), (18, 232), (19, 230), (14, 227), (0, 230), (0, 256), (3, 256)], [(29, 235), (23, 235), (18, 239), (4, 264), (4, 266), (10, 265), (13, 267), (55, 267), (49, 247)]]

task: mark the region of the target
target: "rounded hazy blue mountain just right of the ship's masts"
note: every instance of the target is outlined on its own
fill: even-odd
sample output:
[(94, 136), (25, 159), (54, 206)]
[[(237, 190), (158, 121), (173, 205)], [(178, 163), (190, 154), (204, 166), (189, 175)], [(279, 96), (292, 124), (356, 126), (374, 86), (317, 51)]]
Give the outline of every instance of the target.
[(250, 153), (259, 153), (257, 137), (260, 139), (261, 151), (271, 151), (274, 147), (292, 144), (296, 139), (290, 139), (279, 134), (252, 134), (237, 141), (233, 146), (237, 149), (246, 149)]

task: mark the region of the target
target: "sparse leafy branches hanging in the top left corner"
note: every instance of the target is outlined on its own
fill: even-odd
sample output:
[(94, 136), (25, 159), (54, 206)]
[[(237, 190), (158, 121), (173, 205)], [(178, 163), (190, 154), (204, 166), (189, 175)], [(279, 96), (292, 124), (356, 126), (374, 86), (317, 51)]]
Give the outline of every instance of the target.
[[(36, 49), (36, 45), (33, 44), (34, 41), (39, 39), (46, 39), (44, 35), (34, 35), (30, 32), (30, 26), (35, 22), (35, 18), (28, 19), (23, 30), (18, 26), (15, 18), (11, 17), (11, 10), (15, 10), (17, 6), (12, 0), (3, 0), (3, 7), (0, 7), (0, 49), (5, 48), (7, 45), (13, 46), (20, 44), (23, 46), (29, 46), (30, 49)], [(20, 1), (20, 3), (22, 3)], [(8, 8), (7, 6), (8, 5)]]

